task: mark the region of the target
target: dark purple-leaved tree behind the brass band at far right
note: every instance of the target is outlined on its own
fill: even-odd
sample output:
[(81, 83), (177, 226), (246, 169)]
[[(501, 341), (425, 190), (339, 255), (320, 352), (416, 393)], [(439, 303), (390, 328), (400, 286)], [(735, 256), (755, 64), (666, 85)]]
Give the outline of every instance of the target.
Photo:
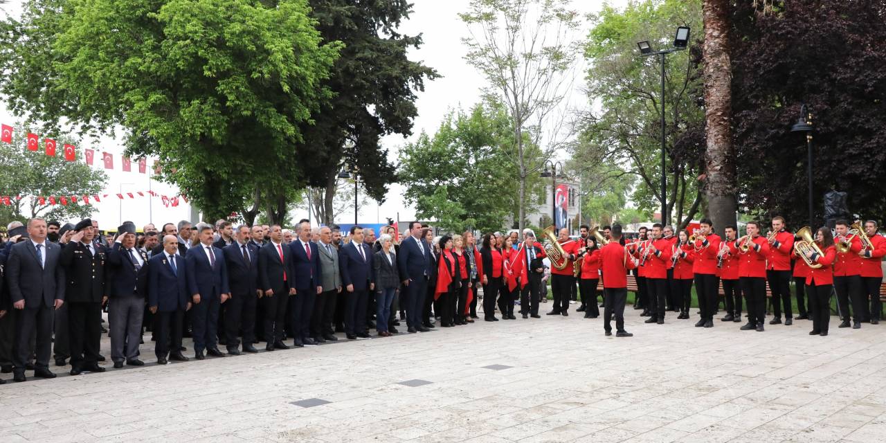
[[(806, 144), (790, 127), (812, 110), (815, 224), (821, 197), (849, 194), (862, 219), (886, 213), (886, 2), (773, 2), (730, 16), (734, 144), (742, 212), (807, 224)], [(839, 38), (835, 38), (839, 36)], [(813, 226), (812, 229), (816, 227)]]

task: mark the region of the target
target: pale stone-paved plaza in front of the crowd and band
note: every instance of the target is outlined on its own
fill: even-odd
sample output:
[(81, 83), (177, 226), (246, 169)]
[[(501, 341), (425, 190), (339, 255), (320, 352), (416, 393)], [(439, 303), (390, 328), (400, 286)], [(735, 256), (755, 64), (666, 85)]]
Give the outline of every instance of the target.
[(0, 442), (886, 441), (886, 326), (638, 314), (633, 338), (572, 313), (165, 367), (149, 341), (143, 368), (0, 386)]

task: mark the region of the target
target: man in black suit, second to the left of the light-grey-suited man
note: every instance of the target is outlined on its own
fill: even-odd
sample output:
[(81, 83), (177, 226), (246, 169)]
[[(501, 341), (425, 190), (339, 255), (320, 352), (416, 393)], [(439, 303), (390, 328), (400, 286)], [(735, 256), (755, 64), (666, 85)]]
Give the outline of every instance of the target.
[[(253, 232), (256, 227), (253, 226)], [(258, 228), (261, 229), (261, 228)], [(295, 295), (295, 266), (292, 265), (292, 252), (283, 245), (283, 231), (280, 225), (268, 228), (270, 241), (259, 250), (259, 283), (264, 307), (265, 341), (268, 351), (289, 349), (283, 342), (286, 305)]]

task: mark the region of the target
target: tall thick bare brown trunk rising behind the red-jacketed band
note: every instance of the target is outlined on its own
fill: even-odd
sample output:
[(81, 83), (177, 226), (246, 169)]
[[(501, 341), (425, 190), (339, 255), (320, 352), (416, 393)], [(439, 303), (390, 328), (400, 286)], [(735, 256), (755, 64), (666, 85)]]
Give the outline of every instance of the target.
[(714, 229), (735, 224), (738, 189), (732, 145), (732, 63), (729, 59), (729, 2), (704, 0), (704, 105), (707, 143), (705, 192)]

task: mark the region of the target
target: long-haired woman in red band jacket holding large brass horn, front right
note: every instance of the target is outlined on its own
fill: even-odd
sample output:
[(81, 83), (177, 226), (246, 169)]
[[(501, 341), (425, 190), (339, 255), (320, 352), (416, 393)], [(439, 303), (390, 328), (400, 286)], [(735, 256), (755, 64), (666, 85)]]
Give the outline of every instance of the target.
[(819, 228), (815, 233), (815, 243), (822, 254), (806, 252), (806, 258), (818, 263), (820, 268), (809, 268), (806, 274), (806, 295), (809, 297), (809, 310), (812, 313), (812, 330), (809, 335), (828, 335), (830, 323), (830, 293), (834, 289), (834, 260), (836, 248), (830, 229)]

